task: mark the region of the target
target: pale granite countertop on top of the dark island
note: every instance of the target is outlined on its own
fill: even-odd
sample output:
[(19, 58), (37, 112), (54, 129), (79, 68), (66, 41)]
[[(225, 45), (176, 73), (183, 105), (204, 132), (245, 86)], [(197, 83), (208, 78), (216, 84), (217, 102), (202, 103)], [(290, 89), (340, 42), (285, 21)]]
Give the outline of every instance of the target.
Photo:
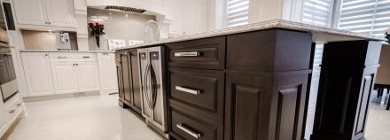
[(313, 39), (312, 39), (313, 43), (328, 43), (328, 42), (354, 41), (354, 40), (372, 40), (372, 41), (383, 41), (384, 40), (384, 39), (378, 38), (376, 36), (357, 34), (354, 32), (335, 29), (335, 28), (331, 28), (331, 27), (319, 27), (319, 26), (304, 24), (304, 23), (300, 23), (300, 22), (287, 21), (287, 20), (283, 20), (283, 19), (273, 19), (273, 20), (248, 24), (245, 26), (229, 27), (229, 28), (223, 28), (220, 30), (214, 30), (214, 31), (209, 31), (209, 32), (205, 32), (205, 33), (194, 34), (194, 35), (183, 35), (183, 36), (175, 37), (175, 38), (162, 39), (160, 41), (156, 41), (156, 42), (152, 42), (152, 43), (142, 43), (142, 44), (137, 44), (137, 45), (131, 45), (131, 46), (122, 47), (122, 48), (119, 48), (116, 50), (144, 47), (144, 46), (151, 46), (151, 45), (159, 45), (159, 44), (163, 44), (163, 43), (182, 42), (182, 41), (187, 41), (187, 40), (214, 37), (214, 36), (220, 36), (220, 35), (232, 35), (232, 34), (238, 34), (238, 33), (251, 32), (251, 31), (259, 31), (259, 30), (264, 30), (264, 29), (269, 29), (269, 28), (284, 28), (284, 29), (291, 29), (291, 30), (302, 31), (302, 32), (309, 32), (313, 35)]

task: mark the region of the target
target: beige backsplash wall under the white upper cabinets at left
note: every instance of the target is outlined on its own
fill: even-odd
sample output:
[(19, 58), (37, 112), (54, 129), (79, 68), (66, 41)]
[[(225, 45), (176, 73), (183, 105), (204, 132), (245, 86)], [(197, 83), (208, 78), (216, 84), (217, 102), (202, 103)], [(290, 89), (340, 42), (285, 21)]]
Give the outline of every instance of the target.
[[(22, 30), (26, 50), (57, 51), (56, 33), (48, 31)], [(77, 51), (76, 33), (69, 33), (71, 50)]]

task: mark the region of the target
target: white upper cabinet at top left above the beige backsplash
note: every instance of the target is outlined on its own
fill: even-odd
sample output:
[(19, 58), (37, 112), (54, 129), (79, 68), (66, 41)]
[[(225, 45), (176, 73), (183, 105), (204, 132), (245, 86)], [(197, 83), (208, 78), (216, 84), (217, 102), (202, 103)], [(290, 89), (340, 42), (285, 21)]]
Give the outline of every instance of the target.
[(46, 27), (75, 27), (71, 0), (14, 0), (17, 23)]

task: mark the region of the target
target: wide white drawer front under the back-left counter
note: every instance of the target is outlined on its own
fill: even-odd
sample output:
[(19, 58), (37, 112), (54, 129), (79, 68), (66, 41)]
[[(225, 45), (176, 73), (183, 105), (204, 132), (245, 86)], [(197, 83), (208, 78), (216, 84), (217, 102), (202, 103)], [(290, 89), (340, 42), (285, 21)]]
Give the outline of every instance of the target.
[(96, 53), (49, 53), (51, 61), (97, 61)]

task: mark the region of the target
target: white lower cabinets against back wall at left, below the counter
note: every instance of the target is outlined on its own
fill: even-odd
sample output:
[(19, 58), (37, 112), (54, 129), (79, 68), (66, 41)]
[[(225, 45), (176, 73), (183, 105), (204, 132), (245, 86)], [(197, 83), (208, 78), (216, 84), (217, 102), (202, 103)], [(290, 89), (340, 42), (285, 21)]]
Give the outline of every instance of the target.
[(95, 53), (22, 52), (28, 96), (98, 91)]

